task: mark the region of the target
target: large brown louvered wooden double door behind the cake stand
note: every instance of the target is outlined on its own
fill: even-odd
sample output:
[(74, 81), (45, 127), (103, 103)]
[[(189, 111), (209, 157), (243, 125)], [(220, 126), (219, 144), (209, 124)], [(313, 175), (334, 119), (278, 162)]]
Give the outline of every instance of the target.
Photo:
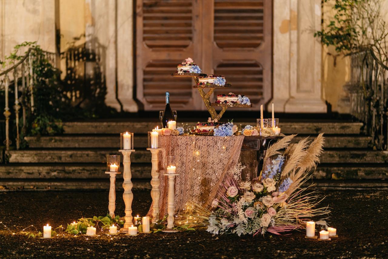
[(136, 28), (137, 98), (145, 110), (163, 108), (167, 90), (174, 108), (206, 110), (191, 79), (170, 76), (187, 57), (232, 83), (214, 96), (245, 94), (251, 110), (271, 98), (272, 1), (137, 0)]

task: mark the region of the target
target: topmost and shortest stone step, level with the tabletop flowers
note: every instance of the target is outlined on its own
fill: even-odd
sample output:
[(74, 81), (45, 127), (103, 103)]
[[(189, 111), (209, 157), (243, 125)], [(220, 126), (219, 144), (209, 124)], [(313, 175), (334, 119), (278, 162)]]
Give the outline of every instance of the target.
[[(177, 126), (181, 125), (177, 123)], [(197, 122), (184, 122), (196, 125)], [(256, 120), (235, 122), (236, 125), (256, 125)], [(64, 122), (65, 134), (119, 134), (120, 132), (134, 132), (147, 134), (147, 131), (160, 127), (159, 122)], [(360, 134), (362, 123), (359, 122), (280, 122), (284, 134)]]

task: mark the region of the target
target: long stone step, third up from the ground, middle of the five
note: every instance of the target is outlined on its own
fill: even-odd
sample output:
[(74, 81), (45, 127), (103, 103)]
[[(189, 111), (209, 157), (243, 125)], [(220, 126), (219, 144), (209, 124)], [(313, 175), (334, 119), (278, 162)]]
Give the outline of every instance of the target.
[[(10, 150), (6, 152), (9, 163), (106, 163), (106, 155), (120, 155), (117, 149), (74, 150)], [(121, 156), (121, 161), (122, 160)], [(151, 163), (151, 152), (137, 149), (131, 154), (132, 163)], [(321, 163), (388, 163), (388, 151), (325, 150)]]

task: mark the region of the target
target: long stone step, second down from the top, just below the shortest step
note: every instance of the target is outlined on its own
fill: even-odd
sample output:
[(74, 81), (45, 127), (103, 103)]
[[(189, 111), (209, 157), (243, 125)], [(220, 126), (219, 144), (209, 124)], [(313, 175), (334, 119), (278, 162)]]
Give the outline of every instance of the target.
[[(300, 141), (306, 136), (296, 136), (293, 142)], [(119, 149), (120, 136), (117, 135), (64, 135), (64, 136), (42, 136), (42, 137), (24, 137), (30, 148), (106, 148)], [(311, 136), (310, 139), (314, 139)], [(326, 135), (325, 148), (367, 148), (371, 142), (368, 136), (341, 136)], [(134, 146), (137, 148), (147, 147), (147, 135), (138, 135), (134, 137)]]

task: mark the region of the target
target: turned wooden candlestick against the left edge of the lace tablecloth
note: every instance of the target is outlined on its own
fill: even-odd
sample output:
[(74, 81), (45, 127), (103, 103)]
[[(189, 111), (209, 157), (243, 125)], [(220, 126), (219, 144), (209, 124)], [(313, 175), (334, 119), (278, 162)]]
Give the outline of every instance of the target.
[(151, 151), (151, 197), (152, 197), (152, 223), (159, 219), (159, 198), (160, 198), (160, 180), (159, 180), (159, 151), (161, 148), (147, 148)]

